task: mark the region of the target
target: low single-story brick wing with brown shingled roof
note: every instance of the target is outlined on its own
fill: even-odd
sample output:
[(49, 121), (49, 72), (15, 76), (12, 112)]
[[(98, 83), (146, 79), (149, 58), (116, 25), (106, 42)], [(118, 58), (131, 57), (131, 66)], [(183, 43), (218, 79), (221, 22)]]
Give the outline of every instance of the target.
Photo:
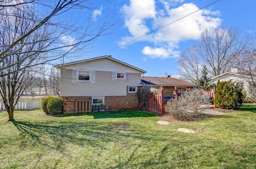
[(160, 86), (163, 86), (165, 90), (163, 96), (170, 97), (173, 99), (175, 97), (175, 87), (178, 89), (178, 96), (182, 94), (182, 92), (186, 91), (187, 88), (193, 88), (197, 85), (193, 83), (189, 83), (186, 81), (182, 81), (180, 79), (172, 78), (170, 75), (165, 75), (162, 77), (148, 77), (142, 76), (141, 82), (147, 86), (152, 86), (153, 88), (160, 89)]

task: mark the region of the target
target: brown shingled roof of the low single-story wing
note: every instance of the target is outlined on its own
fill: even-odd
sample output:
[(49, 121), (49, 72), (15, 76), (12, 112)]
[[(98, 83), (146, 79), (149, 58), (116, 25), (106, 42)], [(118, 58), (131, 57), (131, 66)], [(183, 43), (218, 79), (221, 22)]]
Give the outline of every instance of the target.
[(150, 77), (142, 76), (141, 82), (145, 85), (157, 85), (157, 86), (198, 86), (193, 83), (182, 81), (173, 77)]

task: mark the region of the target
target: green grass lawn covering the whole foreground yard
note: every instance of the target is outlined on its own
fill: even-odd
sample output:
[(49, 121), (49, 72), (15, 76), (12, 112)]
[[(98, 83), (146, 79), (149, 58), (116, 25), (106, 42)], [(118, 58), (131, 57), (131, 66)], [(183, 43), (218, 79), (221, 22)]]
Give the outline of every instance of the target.
[(15, 111), (14, 118), (6, 122), (8, 114), (0, 114), (0, 168), (256, 168), (256, 104), (169, 125), (142, 111), (55, 117)]

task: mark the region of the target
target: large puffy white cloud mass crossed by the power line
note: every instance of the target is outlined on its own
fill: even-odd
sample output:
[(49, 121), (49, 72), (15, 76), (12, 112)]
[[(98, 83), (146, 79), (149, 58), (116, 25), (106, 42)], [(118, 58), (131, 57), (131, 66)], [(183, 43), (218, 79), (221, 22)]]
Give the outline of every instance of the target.
[[(207, 9), (191, 14), (199, 10), (198, 6), (192, 3), (171, 8), (171, 6), (183, 1), (160, 0), (164, 8), (161, 9), (159, 6), (156, 8), (154, 0), (130, 0), (130, 5), (124, 5), (122, 8), (125, 17), (124, 26), (129, 29), (130, 35), (122, 37), (120, 45), (178, 20), (149, 35), (136, 39), (136, 41), (154, 43), (152, 43), (152, 47), (146, 46), (142, 49), (142, 53), (150, 58), (178, 57), (180, 51), (177, 49), (181, 41), (198, 39), (204, 29), (216, 28), (221, 24), (222, 20), (218, 18), (220, 11)], [(188, 14), (191, 15), (179, 20)]]

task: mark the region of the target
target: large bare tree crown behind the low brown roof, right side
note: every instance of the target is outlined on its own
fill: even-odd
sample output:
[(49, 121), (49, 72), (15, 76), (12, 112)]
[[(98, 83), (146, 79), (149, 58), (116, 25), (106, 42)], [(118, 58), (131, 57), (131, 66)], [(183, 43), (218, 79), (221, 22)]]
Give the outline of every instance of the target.
[(182, 53), (180, 75), (196, 83), (203, 65), (206, 65), (210, 76), (227, 72), (233, 67), (232, 60), (237, 57), (241, 47), (240, 34), (235, 27), (204, 30), (192, 49)]

